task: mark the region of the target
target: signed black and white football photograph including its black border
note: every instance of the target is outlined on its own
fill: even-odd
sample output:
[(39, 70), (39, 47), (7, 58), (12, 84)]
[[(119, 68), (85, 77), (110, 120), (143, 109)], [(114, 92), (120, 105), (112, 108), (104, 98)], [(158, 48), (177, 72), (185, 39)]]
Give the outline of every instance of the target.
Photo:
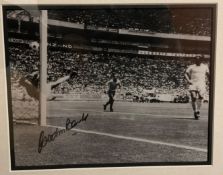
[(11, 169), (211, 165), (215, 10), (3, 6)]

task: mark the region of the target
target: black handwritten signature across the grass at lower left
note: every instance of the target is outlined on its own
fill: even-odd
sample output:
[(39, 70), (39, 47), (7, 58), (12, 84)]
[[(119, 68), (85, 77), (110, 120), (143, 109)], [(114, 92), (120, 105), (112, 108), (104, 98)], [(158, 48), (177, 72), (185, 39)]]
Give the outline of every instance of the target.
[(47, 145), (49, 142), (53, 142), (58, 136), (66, 133), (67, 131), (71, 130), (72, 128), (76, 127), (79, 123), (86, 121), (88, 118), (88, 114), (82, 114), (80, 120), (70, 120), (69, 118), (66, 120), (66, 127), (65, 129), (58, 129), (52, 133), (48, 134), (47, 136), (44, 135), (44, 131), (40, 132), (39, 136), (39, 145), (38, 145), (38, 152), (41, 153), (42, 149)]

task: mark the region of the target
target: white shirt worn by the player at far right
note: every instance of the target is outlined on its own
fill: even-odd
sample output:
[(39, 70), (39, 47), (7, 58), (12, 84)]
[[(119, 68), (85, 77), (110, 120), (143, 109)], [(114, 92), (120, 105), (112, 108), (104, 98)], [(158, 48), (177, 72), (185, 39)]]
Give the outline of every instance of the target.
[(192, 83), (205, 83), (206, 74), (209, 73), (209, 69), (203, 63), (199, 66), (193, 64), (187, 68), (186, 73), (189, 75)]

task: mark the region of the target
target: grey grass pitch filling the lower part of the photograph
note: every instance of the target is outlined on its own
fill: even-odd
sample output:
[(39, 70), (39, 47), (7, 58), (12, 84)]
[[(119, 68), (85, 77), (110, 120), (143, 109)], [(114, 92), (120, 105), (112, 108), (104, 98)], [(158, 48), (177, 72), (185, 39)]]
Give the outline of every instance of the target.
[[(190, 104), (115, 102), (114, 112), (98, 101), (51, 101), (45, 127), (14, 125), (16, 167), (103, 166), (206, 162), (208, 105), (194, 120)], [(85, 122), (47, 143), (38, 153), (41, 131), (52, 134), (66, 120)]]

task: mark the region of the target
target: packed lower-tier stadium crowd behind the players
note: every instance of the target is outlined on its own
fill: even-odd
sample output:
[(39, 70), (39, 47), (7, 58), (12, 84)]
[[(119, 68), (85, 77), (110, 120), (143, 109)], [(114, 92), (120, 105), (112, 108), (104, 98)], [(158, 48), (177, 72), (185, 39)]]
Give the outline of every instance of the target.
[[(12, 72), (31, 74), (39, 68), (38, 52), (24, 46), (9, 47)], [(155, 88), (157, 93), (186, 92), (184, 71), (189, 60), (151, 59), (108, 53), (82, 53), (77, 51), (48, 51), (48, 82), (56, 81), (68, 70), (78, 76), (62, 83), (53, 93), (79, 93), (101, 95), (113, 73), (118, 75), (124, 92), (138, 93), (141, 89)]]

